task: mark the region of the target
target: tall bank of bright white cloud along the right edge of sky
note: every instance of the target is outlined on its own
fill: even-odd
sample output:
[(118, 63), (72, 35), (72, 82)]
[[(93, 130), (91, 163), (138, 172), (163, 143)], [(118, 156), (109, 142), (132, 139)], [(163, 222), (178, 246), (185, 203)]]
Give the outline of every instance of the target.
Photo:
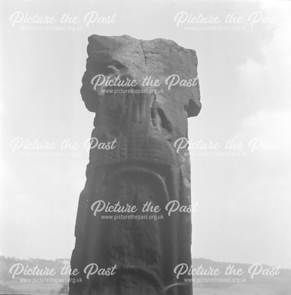
[[(244, 142), (248, 149), (239, 166), (246, 172), (243, 179), (247, 186), (241, 187), (236, 199), (227, 205), (244, 224), (240, 235), (245, 237), (244, 244), (252, 247), (249, 256), (281, 265), (290, 258), (291, 208), (291, 6), (282, 2), (288, 1), (261, 2), (264, 15), (280, 14), (280, 23), (273, 26), (272, 37), (268, 35), (270, 28), (260, 27), (266, 35), (260, 38), (263, 41), (257, 53), (238, 67), (243, 99), (253, 111), (241, 119), (235, 135), (236, 141)], [(272, 143), (277, 148), (268, 149)], [(254, 146), (257, 148), (251, 153)], [(262, 249), (266, 244), (268, 248)]]

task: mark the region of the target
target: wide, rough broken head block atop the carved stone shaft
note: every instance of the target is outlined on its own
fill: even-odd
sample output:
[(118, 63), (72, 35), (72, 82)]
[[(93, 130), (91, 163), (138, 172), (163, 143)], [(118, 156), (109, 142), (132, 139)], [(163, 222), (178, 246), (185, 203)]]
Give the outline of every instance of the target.
[[(106, 89), (103, 84), (93, 89), (92, 78), (102, 74), (110, 79), (119, 76), (126, 81), (127, 78), (138, 82), (135, 89), (159, 89), (159, 93), (167, 101), (174, 99), (179, 104), (187, 106), (188, 117), (197, 116), (201, 109), (199, 80), (197, 77), (197, 56), (195, 50), (179, 46), (172, 40), (154, 39), (138, 40), (128, 35), (88, 37), (88, 59), (86, 72), (83, 77), (83, 91), (81, 94), (86, 107), (91, 112), (96, 112), (96, 100), (104, 96), (101, 90)], [(166, 84), (166, 79), (168, 83)], [(146, 76), (151, 80), (159, 80), (159, 86), (143, 86)], [(173, 79), (173, 80), (172, 80)], [(190, 79), (191, 82), (190, 82)], [(185, 81), (173, 85), (169, 89), (170, 81), (173, 83), (186, 80), (195, 86), (185, 86)], [(189, 84), (188, 84), (189, 85)]]

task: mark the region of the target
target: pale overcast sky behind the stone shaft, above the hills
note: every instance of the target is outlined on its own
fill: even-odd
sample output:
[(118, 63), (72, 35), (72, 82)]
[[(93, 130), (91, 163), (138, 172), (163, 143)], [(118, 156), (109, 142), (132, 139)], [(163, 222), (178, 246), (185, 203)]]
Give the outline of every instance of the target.
[[(94, 118), (80, 96), (87, 38), (126, 34), (196, 50), (202, 109), (188, 120), (189, 140), (231, 153), (190, 149), (193, 257), (291, 267), (290, 1), (2, 1), (1, 8), (1, 255), (70, 258)], [(87, 27), (94, 11), (116, 13), (114, 22)], [(55, 17), (52, 26), (66, 30), (38, 30), (48, 25), (24, 23), (20, 12)], [(64, 13), (78, 23), (61, 24)], [(220, 22), (188, 24), (191, 13)], [(228, 14), (242, 22), (226, 24)], [(33, 156), (39, 150), (13, 150), (18, 137), (55, 143), (54, 152), (71, 152), (60, 149), (65, 139), (78, 148), (75, 157)], [(241, 149), (225, 149), (229, 139)]]

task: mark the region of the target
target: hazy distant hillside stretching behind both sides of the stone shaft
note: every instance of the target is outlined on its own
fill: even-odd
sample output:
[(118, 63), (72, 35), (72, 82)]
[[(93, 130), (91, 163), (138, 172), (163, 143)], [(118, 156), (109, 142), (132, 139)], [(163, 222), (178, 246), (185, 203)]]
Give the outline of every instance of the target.
[[(23, 278), (35, 278), (37, 276), (24, 276), (20, 273), (12, 278), (9, 273), (11, 266), (20, 263), (24, 268), (33, 268), (38, 266), (39, 269), (54, 268), (54, 278), (69, 278), (69, 275), (61, 275), (61, 270), (70, 265), (70, 259), (28, 259), (21, 260), (16, 258), (5, 258), (0, 256), (0, 294), (48, 294), (58, 295), (60, 290), (65, 290), (62, 294), (67, 294), (68, 283), (24, 283)], [(228, 266), (234, 265), (236, 271), (241, 268), (243, 273), (238, 275), (226, 275), (225, 271)], [(201, 266), (201, 267), (200, 267)], [(217, 262), (204, 258), (193, 258), (192, 268), (202, 269), (205, 275), (193, 275), (193, 295), (291, 295), (291, 271), (290, 269), (280, 268), (277, 275), (254, 275), (251, 278), (251, 273), (248, 272), (251, 264)], [(217, 276), (209, 275), (207, 272), (210, 269), (218, 268), (220, 274)], [(258, 267), (258, 270), (260, 268)], [(262, 269), (272, 269), (270, 266), (262, 266)], [(251, 271), (253, 271), (251, 269)], [(39, 277), (39, 276), (38, 276)], [(41, 276), (49, 278), (51, 276)], [(181, 276), (182, 277), (182, 276)], [(199, 280), (198, 280), (199, 279)], [(215, 279), (211, 281), (210, 279)], [(237, 283), (237, 280), (241, 281)], [(245, 281), (244, 281), (245, 279)], [(218, 282), (218, 280), (220, 280)], [(236, 280), (236, 281), (227, 281)], [(244, 282), (242, 282), (244, 281)]]

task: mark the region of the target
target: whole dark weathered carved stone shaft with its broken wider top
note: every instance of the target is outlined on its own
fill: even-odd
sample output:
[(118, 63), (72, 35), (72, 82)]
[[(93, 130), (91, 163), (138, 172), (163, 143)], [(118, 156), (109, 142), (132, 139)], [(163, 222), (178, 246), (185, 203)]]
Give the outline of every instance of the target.
[[(96, 113), (91, 137), (116, 143), (113, 149), (90, 150), (71, 260), (82, 283), (70, 283), (70, 295), (192, 294), (192, 283), (184, 283), (184, 278), (191, 276), (178, 280), (174, 273), (180, 263), (191, 265), (191, 213), (177, 210), (169, 216), (165, 206), (172, 200), (180, 206), (191, 204), (190, 160), (184, 153), (176, 153), (173, 145), (178, 138), (188, 137), (187, 118), (200, 111), (199, 81), (195, 86), (170, 89), (165, 81), (173, 74), (180, 80), (197, 77), (195, 50), (171, 40), (144, 41), (127, 35), (92, 35), (88, 40), (81, 94), (87, 109)], [(118, 76), (123, 81), (135, 79), (137, 85), (103, 84), (94, 89), (93, 78), (98, 74), (109, 80)], [(143, 86), (146, 76), (161, 84)], [(108, 89), (145, 93), (103, 92)], [(154, 89), (163, 93), (149, 93)], [(101, 215), (130, 214), (102, 211), (94, 216), (91, 206), (98, 200), (135, 205), (138, 211), (134, 215), (162, 214), (164, 218), (102, 219)], [(147, 201), (161, 210), (142, 212)], [(86, 278), (83, 269), (91, 263), (106, 269), (116, 265), (116, 270), (114, 275), (95, 273)]]

